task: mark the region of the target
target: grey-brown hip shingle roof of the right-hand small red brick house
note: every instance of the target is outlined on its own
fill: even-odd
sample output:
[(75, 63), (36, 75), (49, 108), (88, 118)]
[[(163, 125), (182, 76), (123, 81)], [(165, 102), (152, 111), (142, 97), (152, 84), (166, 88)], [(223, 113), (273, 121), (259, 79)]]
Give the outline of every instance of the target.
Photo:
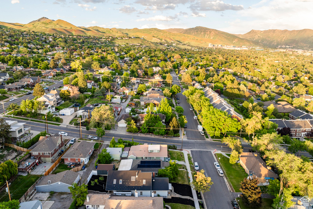
[(62, 158), (86, 158), (95, 143), (82, 140), (76, 142), (62, 156)]

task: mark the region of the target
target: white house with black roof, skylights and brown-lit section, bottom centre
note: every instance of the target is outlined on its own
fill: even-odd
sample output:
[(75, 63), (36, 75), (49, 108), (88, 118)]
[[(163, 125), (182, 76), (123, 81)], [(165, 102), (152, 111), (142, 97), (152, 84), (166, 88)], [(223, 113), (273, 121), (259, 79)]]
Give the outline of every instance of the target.
[(167, 198), (169, 183), (168, 178), (153, 178), (151, 172), (109, 170), (105, 190), (113, 191), (114, 195), (119, 196), (151, 197), (160, 195)]

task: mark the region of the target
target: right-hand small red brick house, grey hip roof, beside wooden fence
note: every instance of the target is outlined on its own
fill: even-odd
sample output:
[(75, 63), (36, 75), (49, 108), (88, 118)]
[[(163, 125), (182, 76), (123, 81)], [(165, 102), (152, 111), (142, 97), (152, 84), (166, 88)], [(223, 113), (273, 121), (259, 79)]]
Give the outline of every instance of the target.
[(95, 143), (82, 140), (74, 143), (62, 156), (64, 164), (82, 163), (87, 164), (91, 154), (94, 151)]

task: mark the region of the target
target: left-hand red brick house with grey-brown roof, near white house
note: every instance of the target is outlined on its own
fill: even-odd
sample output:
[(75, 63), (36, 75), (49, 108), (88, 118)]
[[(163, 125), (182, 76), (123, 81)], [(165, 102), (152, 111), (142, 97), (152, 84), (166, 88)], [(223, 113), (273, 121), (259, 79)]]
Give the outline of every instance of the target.
[(35, 158), (51, 163), (58, 159), (58, 154), (64, 150), (64, 139), (55, 133), (53, 136), (41, 136), (37, 142), (37, 146), (29, 153)]

